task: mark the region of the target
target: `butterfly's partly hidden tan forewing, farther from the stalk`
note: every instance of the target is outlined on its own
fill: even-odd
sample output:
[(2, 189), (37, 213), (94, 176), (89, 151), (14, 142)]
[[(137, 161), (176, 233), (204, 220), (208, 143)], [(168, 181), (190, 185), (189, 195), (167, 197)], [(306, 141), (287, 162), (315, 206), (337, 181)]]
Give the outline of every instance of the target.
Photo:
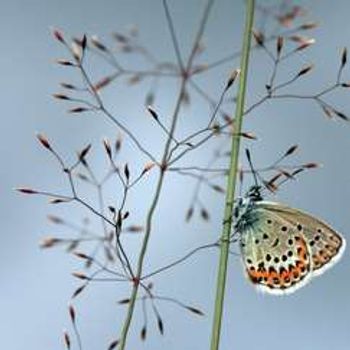
[(325, 222), (301, 210), (279, 203), (261, 202), (260, 206), (275, 213), (294, 227), (301, 227), (312, 257), (313, 275), (322, 274), (341, 258), (345, 239)]

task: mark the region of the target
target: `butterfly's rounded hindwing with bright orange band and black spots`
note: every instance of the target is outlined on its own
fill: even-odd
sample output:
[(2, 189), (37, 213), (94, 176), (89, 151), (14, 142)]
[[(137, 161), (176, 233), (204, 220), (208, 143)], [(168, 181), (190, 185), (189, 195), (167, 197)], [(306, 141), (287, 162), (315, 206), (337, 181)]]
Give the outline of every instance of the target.
[(243, 264), (261, 291), (281, 295), (294, 292), (310, 278), (309, 246), (301, 230), (264, 208), (252, 211), (253, 220), (240, 232)]

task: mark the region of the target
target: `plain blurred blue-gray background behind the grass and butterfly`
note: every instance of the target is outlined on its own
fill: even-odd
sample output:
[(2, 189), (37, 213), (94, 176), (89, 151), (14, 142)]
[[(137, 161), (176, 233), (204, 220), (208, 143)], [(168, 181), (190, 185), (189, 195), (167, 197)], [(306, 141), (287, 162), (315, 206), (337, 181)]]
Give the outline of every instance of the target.
[[(178, 34), (186, 49), (203, 3), (199, 0), (170, 1)], [(305, 1), (303, 4), (321, 27), (314, 32), (316, 45), (296, 59), (300, 65), (316, 62), (312, 79), (300, 84), (298, 91), (317, 91), (333, 79), (339, 52), (349, 45), (349, 4), (345, 0)], [(144, 42), (153, 52), (168, 59), (174, 56), (158, 0), (13, 0), (2, 1), (1, 5), (1, 348), (61, 349), (62, 329), (69, 329), (66, 306), (76, 286), (69, 272), (76, 264), (59, 249), (39, 250), (40, 238), (56, 232), (56, 228), (45, 221), (47, 213), (53, 209), (48, 209), (43, 199), (24, 199), (14, 193), (13, 188), (21, 184), (45, 189), (63, 186), (55, 163), (34, 139), (37, 131), (45, 132), (63, 154), (72, 155), (88, 142), (97, 145), (104, 136), (113, 137), (116, 130), (95, 117), (67, 117), (64, 106), (50, 97), (50, 93), (56, 91), (57, 83), (70, 74), (52, 64), (55, 58), (64, 56), (64, 52), (51, 39), (49, 28), (59, 26), (72, 34), (86, 32), (107, 37), (113, 30), (122, 31), (130, 24), (137, 24)], [(306, 19), (310, 18), (306, 16)], [(217, 1), (206, 34), (210, 48), (206, 58), (220, 58), (230, 53), (231, 48), (240, 47), (242, 20), (241, 1)], [(253, 60), (260, 57), (254, 54)], [(266, 61), (255, 61), (256, 70), (251, 72), (254, 79), (249, 88), (252, 94), (248, 94), (250, 102), (256, 98), (255, 86), (262, 91), (264, 67), (267, 67)], [(226, 66), (216, 75), (212, 74), (213, 81), (206, 83), (206, 89), (213, 96), (218, 95), (219, 83), (224, 81), (228, 70)], [(345, 74), (350, 78), (349, 71)], [(174, 104), (175, 90), (171, 86), (167, 90), (166, 84), (163, 87), (165, 90), (158, 105), (167, 115)], [(142, 125), (144, 133), (140, 137), (157, 152), (159, 144), (153, 140), (159, 130), (144, 112), (143, 88), (122, 91), (120, 85), (109, 90), (106, 94), (108, 104), (124, 118), (127, 116), (133, 129)], [(338, 106), (350, 112), (347, 94), (340, 94), (336, 99)], [(207, 109), (197, 105), (187, 109), (185, 114), (195, 127), (204, 113), (208, 113)], [(349, 126), (326, 120), (311, 102), (292, 101), (260, 108), (247, 119), (245, 128), (255, 131), (261, 139), (253, 146), (258, 165), (271, 161), (276, 152), (294, 143), (301, 146), (300, 161), (317, 160), (324, 164), (322, 169), (285, 186), (278, 199), (319, 215), (349, 237)], [(132, 159), (135, 155), (130, 151), (124, 157)], [(95, 164), (105, 165), (99, 160), (97, 150), (94, 159)], [(205, 155), (203, 159), (205, 161)], [(192, 185), (187, 180), (179, 182), (177, 177), (174, 182), (167, 182), (166, 191), (172, 196), (172, 202), (169, 203), (165, 195), (162, 197), (148, 268), (164, 264), (184, 250), (217, 235), (222, 199), (212, 193), (205, 197), (214, 204), (212, 223), (184, 225), (183, 215), (189, 200), (186, 186), (192, 188)], [(147, 187), (142, 190), (145, 192), (138, 194), (141, 200), (135, 200), (139, 205), (139, 218), (143, 217), (142, 210), (147, 208), (150, 198)], [(77, 213), (72, 220), (81, 219), (82, 213)], [(216, 262), (215, 253), (201, 254), (156, 280), (161, 293), (201, 305), (207, 313), (205, 319), (198, 320), (171, 305), (162, 305), (165, 336), (157, 335), (153, 327), (148, 341), (141, 344), (138, 337), (140, 322), (136, 321), (128, 348), (208, 348)], [(348, 349), (349, 262), (349, 254), (345, 252), (339, 265), (311, 285), (289, 297), (275, 298), (257, 294), (245, 281), (238, 260), (232, 260), (222, 349)], [(118, 285), (100, 284), (79, 300), (76, 306), (84, 349), (103, 349), (118, 335), (123, 308), (116, 301), (125, 295), (126, 290), (121, 291)]]

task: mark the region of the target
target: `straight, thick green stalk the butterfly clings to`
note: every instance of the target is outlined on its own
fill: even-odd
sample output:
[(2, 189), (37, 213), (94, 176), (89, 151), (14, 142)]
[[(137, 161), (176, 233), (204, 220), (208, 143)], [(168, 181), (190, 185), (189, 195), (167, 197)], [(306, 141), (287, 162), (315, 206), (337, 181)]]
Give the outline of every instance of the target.
[(226, 285), (226, 275), (227, 275), (227, 264), (229, 256), (229, 239), (232, 227), (232, 212), (233, 212), (233, 202), (235, 198), (235, 187), (238, 169), (238, 157), (240, 148), (240, 134), (242, 130), (242, 121), (244, 114), (244, 100), (247, 84), (247, 73), (249, 64), (249, 52), (251, 43), (251, 34), (254, 18), (254, 0), (247, 0), (246, 9), (246, 24), (243, 34), (243, 47), (242, 47), (242, 58), (241, 58), (241, 74), (239, 80), (239, 90), (236, 105), (236, 113), (234, 119), (234, 129), (235, 132), (232, 135), (232, 147), (231, 147), (231, 159), (229, 174), (227, 179), (227, 190), (226, 190), (226, 202), (224, 211), (224, 223), (221, 235), (221, 246), (220, 246), (220, 260), (219, 260), (219, 270), (217, 276), (217, 286), (216, 286), (216, 300), (215, 300), (215, 310), (211, 337), (211, 350), (218, 350), (220, 344), (220, 333), (221, 333), (221, 323), (223, 314), (223, 305), (225, 297), (225, 285)]

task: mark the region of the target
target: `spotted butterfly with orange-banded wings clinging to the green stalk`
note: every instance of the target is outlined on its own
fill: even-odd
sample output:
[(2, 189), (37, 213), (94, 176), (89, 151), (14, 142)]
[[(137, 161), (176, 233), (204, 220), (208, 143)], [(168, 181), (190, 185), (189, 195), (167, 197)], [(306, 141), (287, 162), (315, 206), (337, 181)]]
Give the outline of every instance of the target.
[(346, 242), (322, 220), (263, 200), (261, 190), (252, 186), (234, 208), (243, 265), (258, 290), (293, 293), (339, 261)]

